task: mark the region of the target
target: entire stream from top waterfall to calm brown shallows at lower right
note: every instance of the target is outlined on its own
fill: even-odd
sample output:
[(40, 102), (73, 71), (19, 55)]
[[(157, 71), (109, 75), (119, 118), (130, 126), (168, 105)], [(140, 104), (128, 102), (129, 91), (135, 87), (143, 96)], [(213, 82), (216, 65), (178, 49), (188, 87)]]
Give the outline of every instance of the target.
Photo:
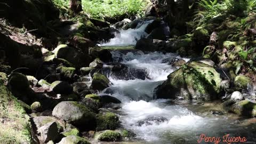
[[(124, 48), (127, 45), (135, 45), (137, 39), (147, 36), (143, 30), (148, 23), (150, 21), (141, 23), (137, 29), (120, 30), (116, 38), (101, 45)], [(135, 50), (116, 50), (111, 53), (114, 61), (132, 69), (146, 70), (147, 73), (145, 79), (124, 80), (108, 75), (113, 85), (100, 93), (122, 101), (122, 108), (117, 114), (122, 127), (136, 134), (133, 141), (155, 144), (198, 143), (197, 140), (203, 133), (206, 137), (220, 137), (220, 143), (226, 143), (222, 142), (222, 137), (226, 134), (229, 134), (229, 137), (245, 137), (247, 141), (243, 143), (256, 143), (256, 119), (242, 119), (226, 113), (220, 101), (207, 103), (154, 98), (155, 87), (178, 69), (168, 65), (166, 60), (180, 58), (179, 55)]]

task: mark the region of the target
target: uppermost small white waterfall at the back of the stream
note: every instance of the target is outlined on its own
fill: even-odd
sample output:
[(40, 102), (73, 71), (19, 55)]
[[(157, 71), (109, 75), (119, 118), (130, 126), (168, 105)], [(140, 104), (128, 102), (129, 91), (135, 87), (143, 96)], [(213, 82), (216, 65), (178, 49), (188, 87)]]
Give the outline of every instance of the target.
[(148, 34), (144, 31), (149, 23), (153, 20), (143, 21), (138, 24), (135, 29), (119, 30), (119, 33), (115, 33), (115, 38), (111, 38), (109, 42), (102, 43), (102, 46), (127, 46), (135, 45), (136, 42), (142, 38), (146, 37)]

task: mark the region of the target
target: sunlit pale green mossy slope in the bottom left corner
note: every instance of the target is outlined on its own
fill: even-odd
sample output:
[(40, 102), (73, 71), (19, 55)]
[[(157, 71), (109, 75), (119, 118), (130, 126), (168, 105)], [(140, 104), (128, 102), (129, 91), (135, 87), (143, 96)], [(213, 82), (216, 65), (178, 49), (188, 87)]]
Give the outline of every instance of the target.
[(32, 143), (29, 116), (19, 101), (4, 85), (0, 75), (0, 143)]

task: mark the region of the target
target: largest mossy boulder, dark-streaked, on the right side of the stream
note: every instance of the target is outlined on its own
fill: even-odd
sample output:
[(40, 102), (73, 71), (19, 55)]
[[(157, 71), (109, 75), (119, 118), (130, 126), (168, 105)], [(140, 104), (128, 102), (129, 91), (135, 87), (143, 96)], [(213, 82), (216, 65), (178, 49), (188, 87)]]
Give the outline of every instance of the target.
[(163, 84), (157, 86), (156, 97), (214, 100), (221, 92), (220, 83), (220, 74), (213, 67), (193, 61), (175, 70)]

